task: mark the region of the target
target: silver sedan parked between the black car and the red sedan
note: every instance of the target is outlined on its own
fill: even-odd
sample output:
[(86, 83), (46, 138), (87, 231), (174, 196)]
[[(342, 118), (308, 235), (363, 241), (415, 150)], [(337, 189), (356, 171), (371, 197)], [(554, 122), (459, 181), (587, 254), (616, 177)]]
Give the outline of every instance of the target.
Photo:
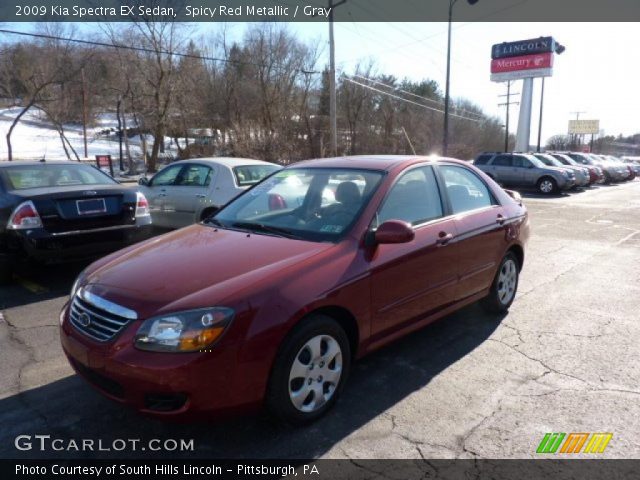
[(281, 168), (248, 158), (197, 158), (171, 163), (138, 183), (149, 201), (154, 226), (182, 228), (213, 215)]

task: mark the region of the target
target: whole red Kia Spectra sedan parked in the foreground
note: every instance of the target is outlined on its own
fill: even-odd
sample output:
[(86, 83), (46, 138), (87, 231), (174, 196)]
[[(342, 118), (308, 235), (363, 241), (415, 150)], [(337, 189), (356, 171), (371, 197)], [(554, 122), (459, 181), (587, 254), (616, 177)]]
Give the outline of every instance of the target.
[(62, 345), (87, 381), (145, 413), (264, 403), (304, 423), (335, 403), (353, 359), (477, 300), (506, 311), (528, 236), (519, 196), (465, 162), (300, 162), (88, 267)]

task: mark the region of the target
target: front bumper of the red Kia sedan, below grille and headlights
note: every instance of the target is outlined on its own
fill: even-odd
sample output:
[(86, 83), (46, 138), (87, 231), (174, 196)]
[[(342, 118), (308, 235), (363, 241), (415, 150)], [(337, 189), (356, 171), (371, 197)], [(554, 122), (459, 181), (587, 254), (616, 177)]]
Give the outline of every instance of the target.
[(133, 346), (138, 326), (133, 322), (114, 340), (97, 342), (70, 324), (65, 306), (62, 349), (76, 373), (100, 393), (147, 415), (189, 419), (257, 406), (238, 397), (242, 388), (234, 388), (235, 345), (194, 353), (146, 352)]

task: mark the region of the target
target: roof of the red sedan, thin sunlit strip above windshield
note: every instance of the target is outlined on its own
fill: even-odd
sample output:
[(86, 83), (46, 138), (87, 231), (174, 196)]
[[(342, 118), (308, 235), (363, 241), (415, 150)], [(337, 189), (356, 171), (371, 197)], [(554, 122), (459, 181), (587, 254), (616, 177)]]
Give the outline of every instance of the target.
[(351, 155), (344, 157), (318, 158), (304, 160), (291, 166), (296, 167), (322, 167), (322, 168), (354, 168), (363, 170), (390, 170), (396, 166), (408, 166), (413, 163), (425, 161), (453, 161), (468, 164), (455, 158), (439, 157), (437, 155)]

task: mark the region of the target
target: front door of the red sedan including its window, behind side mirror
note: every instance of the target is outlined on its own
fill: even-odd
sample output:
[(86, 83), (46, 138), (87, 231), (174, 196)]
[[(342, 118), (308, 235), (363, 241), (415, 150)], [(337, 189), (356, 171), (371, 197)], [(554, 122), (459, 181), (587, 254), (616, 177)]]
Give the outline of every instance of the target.
[(415, 239), (377, 247), (371, 261), (372, 333), (402, 328), (453, 301), (457, 232), (444, 212), (432, 166), (410, 169), (391, 188), (376, 226), (404, 220), (414, 226)]

